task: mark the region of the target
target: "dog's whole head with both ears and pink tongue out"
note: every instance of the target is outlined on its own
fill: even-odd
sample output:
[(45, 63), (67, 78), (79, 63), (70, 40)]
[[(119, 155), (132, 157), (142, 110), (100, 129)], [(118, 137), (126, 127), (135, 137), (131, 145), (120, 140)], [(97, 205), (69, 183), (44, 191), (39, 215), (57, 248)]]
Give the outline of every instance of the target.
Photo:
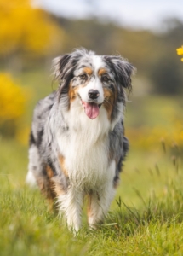
[(121, 56), (95, 55), (86, 49), (54, 59), (55, 77), (60, 81), (59, 101), (66, 108), (77, 101), (89, 119), (106, 108), (110, 120), (117, 119), (125, 105), (125, 91), (131, 90), (134, 67)]

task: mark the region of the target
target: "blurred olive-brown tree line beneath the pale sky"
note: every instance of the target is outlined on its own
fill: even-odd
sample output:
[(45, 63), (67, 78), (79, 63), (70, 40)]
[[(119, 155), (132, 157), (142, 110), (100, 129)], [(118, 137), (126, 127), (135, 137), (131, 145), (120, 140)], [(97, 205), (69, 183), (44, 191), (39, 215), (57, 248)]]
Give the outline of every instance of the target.
[(57, 18), (67, 35), (66, 51), (83, 46), (100, 55), (121, 54), (137, 67), (137, 76), (146, 77), (152, 92), (183, 92), (183, 72), (176, 55), (183, 42), (180, 20), (164, 21), (163, 32), (135, 31), (100, 20), (64, 20)]

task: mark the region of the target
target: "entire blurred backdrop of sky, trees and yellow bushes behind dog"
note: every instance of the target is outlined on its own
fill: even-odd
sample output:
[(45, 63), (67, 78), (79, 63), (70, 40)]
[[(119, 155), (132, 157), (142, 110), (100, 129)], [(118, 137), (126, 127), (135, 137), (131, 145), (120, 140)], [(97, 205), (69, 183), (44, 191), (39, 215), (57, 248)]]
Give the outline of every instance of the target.
[(182, 44), (181, 0), (0, 0), (0, 172), (21, 169), (24, 182), (33, 108), (57, 88), (51, 60), (78, 47), (123, 55), (137, 68), (124, 174), (158, 173), (164, 153), (174, 163), (183, 152)]

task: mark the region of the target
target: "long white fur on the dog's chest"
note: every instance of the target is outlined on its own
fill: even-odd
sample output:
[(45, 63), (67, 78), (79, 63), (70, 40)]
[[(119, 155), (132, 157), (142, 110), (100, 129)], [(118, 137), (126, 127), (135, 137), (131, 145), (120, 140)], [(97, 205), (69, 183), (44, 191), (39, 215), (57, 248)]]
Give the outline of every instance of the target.
[(102, 186), (112, 176), (112, 173), (108, 173), (110, 122), (106, 110), (101, 108), (100, 115), (91, 120), (83, 109), (77, 108), (76, 113), (72, 108), (66, 121), (69, 131), (58, 135), (58, 143), (71, 183), (85, 189)]

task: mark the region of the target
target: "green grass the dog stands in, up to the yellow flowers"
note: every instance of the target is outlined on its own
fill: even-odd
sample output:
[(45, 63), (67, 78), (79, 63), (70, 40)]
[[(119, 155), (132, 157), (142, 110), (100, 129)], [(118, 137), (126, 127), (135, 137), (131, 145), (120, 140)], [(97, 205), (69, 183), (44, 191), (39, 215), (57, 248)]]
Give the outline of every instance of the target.
[[(14, 141), (1, 140), (0, 145), (1, 255), (183, 254), (179, 157), (177, 167), (169, 154), (152, 158), (151, 153), (132, 148), (105, 224), (91, 231), (84, 217), (83, 228), (74, 237), (49, 212), (39, 192), (25, 186), (27, 148)], [(152, 166), (155, 159), (158, 171)]]

